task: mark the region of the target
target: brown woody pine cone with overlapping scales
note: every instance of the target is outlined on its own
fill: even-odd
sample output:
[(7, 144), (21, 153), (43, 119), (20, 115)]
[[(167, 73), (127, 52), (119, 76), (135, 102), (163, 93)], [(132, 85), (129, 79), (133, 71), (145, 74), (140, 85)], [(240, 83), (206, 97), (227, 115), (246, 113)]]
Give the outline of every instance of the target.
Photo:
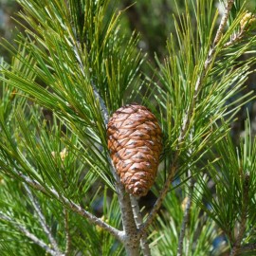
[(119, 108), (107, 125), (108, 149), (127, 192), (146, 195), (155, 181), (162, 149), (155, 116), (136, 103)]

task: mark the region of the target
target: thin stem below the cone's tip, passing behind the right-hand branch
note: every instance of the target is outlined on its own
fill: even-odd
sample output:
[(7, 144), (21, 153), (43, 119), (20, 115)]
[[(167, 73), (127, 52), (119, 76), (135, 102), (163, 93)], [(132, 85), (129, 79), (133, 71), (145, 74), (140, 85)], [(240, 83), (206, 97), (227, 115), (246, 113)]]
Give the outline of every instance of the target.
[[(137, 229), (140, 229), (142, 224), (143, 224), (143, 219), (141, 216), (141, 212), (139, 210), (139, 206), (137, 203), (137, 198), (135, 196), (133, 196), (132, 194), (130, 194), (130, 198), (131, 198), (131, 203), (132, 203), (132, 209), (134, 212), (134, 218), (136, 221), (136, 225), (137, 225)], [(142, 237), (140, 238), (140, 247), (142, 249), (142, 253), (144, 256), (151, 256), (151, 251), (150, 251), (150, 247), (149, 247), (149, 243), (147, 241), (147, 234), (144, 233), (142, 235)]]

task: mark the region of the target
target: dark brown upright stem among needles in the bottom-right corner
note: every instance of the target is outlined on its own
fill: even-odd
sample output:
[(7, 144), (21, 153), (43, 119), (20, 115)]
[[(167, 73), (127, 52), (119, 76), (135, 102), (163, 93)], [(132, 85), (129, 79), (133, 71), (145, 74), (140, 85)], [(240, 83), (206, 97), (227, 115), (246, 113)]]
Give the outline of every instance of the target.
[(230, 251), (230, 256), (235, 256), (239, 253), (241, 248), (241, 242), (245, 231), (247, 229), (247, 208), (248, 208), (248, 192), (249, 192), (249, 174), (245, 174), (245, 184), (243, 188), (243, 206), (242, 206), (242, 213), (241, 213), (241, 222), (238, 229), (238, 236), (236, 241)]

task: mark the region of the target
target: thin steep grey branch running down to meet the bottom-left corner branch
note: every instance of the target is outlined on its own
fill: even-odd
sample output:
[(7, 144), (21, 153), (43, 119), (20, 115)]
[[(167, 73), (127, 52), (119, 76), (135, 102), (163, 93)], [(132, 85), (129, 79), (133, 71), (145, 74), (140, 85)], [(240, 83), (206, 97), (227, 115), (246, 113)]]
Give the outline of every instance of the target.
[(54, 250), (56, 252), (59, 252), (59, 254), (61, 254), (60, 248), (58, 247), (58, 244), (56, 242), (56, 240), (54, 239), (54, 237), (51, 234), (50, 229), (48, 228), (47, 224), (46, 224), (46, 218), (42, 212), (42, 210), (40, 209), (40, 205), (39, 202), (37, 201), (37, 199), (33, 196), (32, 192), (30, 191), (30, 189), (27, 187), (27, 184), (24, 184), (25, 190), (27, 191), (27, 195), (28, 198), (39, 218), (39, 222), (41, 224), (41, 227), (44, 229), (46, 236), (48, 237), (49, 242), (51, 243), (52, 247), (54, 248)]

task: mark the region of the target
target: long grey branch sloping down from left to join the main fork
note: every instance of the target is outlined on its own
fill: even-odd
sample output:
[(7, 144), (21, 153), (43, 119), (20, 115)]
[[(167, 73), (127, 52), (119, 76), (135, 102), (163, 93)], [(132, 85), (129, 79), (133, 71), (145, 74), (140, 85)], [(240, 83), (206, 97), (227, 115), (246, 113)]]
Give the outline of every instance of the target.
[(64, 206), (67, 207), (68, 209), (70, 209), (74, 212), (77, 212), (79, 215), (86, 218), (92, 224), (98, 225), (99, 227), (101, 227), (101, 229), (104, 229), (104, 230), (108, 231), (109, 233), (111, 233), (121, 243), (124, 243), (124, 232), (123, 231), (120, 231), (119, 229), (115, 229), (112, 226), (108, 225), (107, 223), (102, 221), (100, 218), (97, 218), (95, 215), (93, 215), (89, 211), (82, 209), (81, 206), (77, 205), (76, 203), (69, 200), (68, 198), (60, 195), (55, 190), (50, 189), (50, 188), (46, 189), (46, 185), (45, 185), (45, 187), (43, 187), (40, 183), (38, 183), (35, 180), (32, 180), (30, 177), (27, 177), (27, 175), (25, 175), (25, 174), (19, 173), (19, 176), (25, 183), (27, 183), (27, 185), (31, 186), (32, 188), (34, 188), (37, 191), (45, 192), (46, 194), (50, 194), (55, 199), (62, 202), (64, 204)]

